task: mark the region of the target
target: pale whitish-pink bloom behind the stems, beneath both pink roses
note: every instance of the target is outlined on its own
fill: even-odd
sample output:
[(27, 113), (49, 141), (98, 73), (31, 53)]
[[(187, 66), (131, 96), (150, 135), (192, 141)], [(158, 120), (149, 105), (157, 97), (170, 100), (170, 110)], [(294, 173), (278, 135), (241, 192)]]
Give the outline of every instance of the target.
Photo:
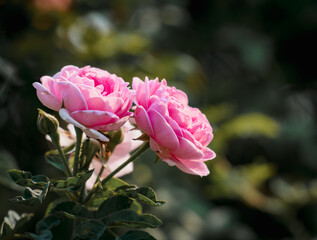
[[(108, 161), (105, 163), (105, 169), (100, 177), (100, 179), (104, 179), (107, 177), (112, 171), (114, 171), (117, 167), (119, 167), (122, 163), (127, 161), (130, 158), (130, 153), (137, 149), (142, 141), (135, 140), (141, 135), (140, 130), (133, 129), (134, 126), (130, 122), (126, 122), (122, 126), (122, 132), (124, 134), (123, 140), (119, 143), (113, 152), (111, 153)], [(74, 128), (71, 125), (67, 125), (67, 129), (59, 128), (58, 132), (60, 134), (60, 144), (62, 147), (67, 147), (73, 144), (76, 141), (76, 133)], [(46, 135), (48, 140), (51, 140), (48, 135)], [(86, 136), (84, 135), (84, 139)], [(92, 189), (96, 178), (99, 174), (99, 171), (102, 167), (101, 161), (95, 157), (91, 161), (89, 169), (95, 169), (92, 176), (86, 182), (86, 188), (88, 190)], [(129, 163), (126, 167), (124, 167), (121, 171), (119, 171), (114, 177), (121, 177), (126, 174), (129, 174), (133, 171), (133, 163)]]

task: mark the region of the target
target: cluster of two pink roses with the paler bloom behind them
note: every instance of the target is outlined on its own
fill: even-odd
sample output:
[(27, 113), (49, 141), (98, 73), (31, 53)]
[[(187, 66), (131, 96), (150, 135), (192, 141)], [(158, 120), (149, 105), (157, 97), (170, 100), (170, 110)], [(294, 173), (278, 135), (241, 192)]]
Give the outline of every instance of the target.
[[(33, 86), (43, 105), (59, 111), (63, 120), (80, 128), (87, 137), (108, 142), (106, 133), (123, 128), (124, 139), (115, 147), (109, 166), (120, 165), (140, 145), (130, 133), (130, 120), (149, 137), (150, 148), (164, 162), (186, 173), (209, 174), (204, 162), (215, 157), (208, 148), (212, 128), (199, 109), (188, 105), (187, 95), (169, 87), (165, 80), (134, 78), (131, 90), (122, 78), (105, 70), (65, 66)], [(92, 165), (100, 168), (98, 161)], [(105, 176), (112, 170), (109, 166)], [(132, 168), (121, 171), (123, 175)]]

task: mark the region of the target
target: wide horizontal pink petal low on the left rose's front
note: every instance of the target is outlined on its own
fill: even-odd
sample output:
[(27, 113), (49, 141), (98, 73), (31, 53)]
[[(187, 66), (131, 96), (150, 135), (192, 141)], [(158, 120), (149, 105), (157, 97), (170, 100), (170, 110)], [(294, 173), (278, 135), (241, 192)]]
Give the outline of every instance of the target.
[(86, 127), (110, 124), (119, 120), (114, 113), (98, 110), (80, 110), (70, 115)]

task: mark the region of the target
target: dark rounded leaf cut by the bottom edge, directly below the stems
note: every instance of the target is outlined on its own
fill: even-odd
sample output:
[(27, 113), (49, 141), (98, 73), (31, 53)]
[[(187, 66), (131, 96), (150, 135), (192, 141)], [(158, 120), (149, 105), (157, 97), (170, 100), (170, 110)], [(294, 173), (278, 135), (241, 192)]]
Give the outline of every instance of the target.
[(106, 229), (105, 224), (97, 219), (90, 219), (79, 224), (75, 230), (75, 239), (98, 240)]

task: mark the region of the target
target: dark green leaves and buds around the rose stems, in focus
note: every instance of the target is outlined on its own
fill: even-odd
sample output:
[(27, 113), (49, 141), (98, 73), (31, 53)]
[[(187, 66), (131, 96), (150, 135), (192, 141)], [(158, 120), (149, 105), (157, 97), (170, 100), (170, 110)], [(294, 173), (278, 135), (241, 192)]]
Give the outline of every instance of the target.
[[(40, 114), (41, 117), (45, 116), (45, 112), (42, 110)], [(57, 121), (51, 115), (49, 118)], [(42, 121), (45, 120), (45, 117), (43, 117)], [(57, 131), (58, 129), (55, 128), (49, 135), (57, 136), (56, 142), (59, 143)], [(60, 146), (56, 146), (57, 149), (61, 149)], [(68, 171), (64, 166), (68, 164), (63, 163), (65, 160), (64, 154), (67, 154), (73, 147), (71, 145), (58, 152), (50, 150), (45, 154), (48, 162), (53, 167), (64, 171), (66, 176)], [(82, 145), (76, 144), (76, 147), (80, 149), (76, 149), (75, 152), (78, 154), (81, 152), (81, 158), (89, 162), (94, 157), (92, 152), (96, 154), (98, 151), (94, 145), (89, 145), (87, 141)], [(54, 159), (54, 164), (52, 164), (52, 159)], [(73, 162), (72, 164), (76, 163)], [(24, 236), (36, 240), (53, 239), (52, 229), (66, 219), (74, 222), (74, 239), (109, 239), (109, 236), (103, 237), (104, 233), (110, 233), (113, 239), (119, 239), (113, 231), (115, 227), (156, 228), (162, 224), (160, 219), (154, 215), (143, 213), (142, 210), (141, 203), (151, 206), (164, 204), (164, 201), (157, 200), (153, 189), (149, 187), (138, 188), (114, 177), (105, 178), (103, 181), (98, 177), (94, 188), (87, 194), (85, 185), (94, 169), (88, 170), (89, 164), (83, 165), (86, 168), (82, 166), (82, 172), (74, 172), (72, 176), (63, 179), (52, 179), (44, 175), (33, 176), (28, 171), (10, 169), (8, 173), (11, 179), (16, 184), (25, 187), (23, 195), (11, 199), (11, 202), (26, 207), (39, 206), (51, 192), (57, 192), (59, 198), (49, 204), (45, 216), (37, 222), (36, 233), (19, 232), (33, 214), (22, 214), (20, 216), (10, 210), (9, 216), (4, 219), (2, 224), (0, 232), (2, 238), (10, 239)], [(131, 239), (132, 237), (154, 239), (150, 234), (142, 231), (130, 231), (122, 238)]]

